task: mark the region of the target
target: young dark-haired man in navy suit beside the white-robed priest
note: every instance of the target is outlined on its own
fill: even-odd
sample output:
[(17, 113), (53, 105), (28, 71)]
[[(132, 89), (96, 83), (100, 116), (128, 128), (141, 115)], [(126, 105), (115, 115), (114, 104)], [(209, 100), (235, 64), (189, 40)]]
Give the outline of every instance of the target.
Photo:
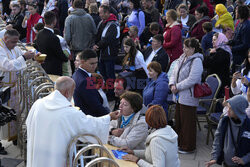
[(76, 83), (75, 105), (80, 107), (86, 115), (99, 117), (108, 114), (109, 111), (103, 107), (101, 97), (91, 80), (91, 73), (95, 72), (98, 63), (95, 51), (86, 49), (77, 57), (80, 59), (80, 66), (72, 76)]

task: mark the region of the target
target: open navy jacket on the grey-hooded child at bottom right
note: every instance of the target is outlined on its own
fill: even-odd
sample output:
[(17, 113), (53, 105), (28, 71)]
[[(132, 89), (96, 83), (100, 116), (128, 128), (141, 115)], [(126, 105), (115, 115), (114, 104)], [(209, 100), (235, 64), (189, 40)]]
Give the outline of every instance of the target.
[[(228, 122), (229, 117), (225, 116), (223, 117), (219, 125), (217, 127), (217, 130), (215, 132), (215, 140), (213, 143), (213, 150), (212, 150), (212, 157), (218, 164), (222, 164), (224, 161), (224, 142), (225, 140), (231, 140), (225, 139), (225, 135), (228, 129)], [(235, 148), (235, 156), (240, 157), (243, 159), (244, 162), (248, 161), (247, 164), (244, 165), (244, 167), (250, 167), (250, 120), (246, 116), (244, 123), (239, 129), (237, 144)], [(242, 166), (242, 165), (240, 165)]]

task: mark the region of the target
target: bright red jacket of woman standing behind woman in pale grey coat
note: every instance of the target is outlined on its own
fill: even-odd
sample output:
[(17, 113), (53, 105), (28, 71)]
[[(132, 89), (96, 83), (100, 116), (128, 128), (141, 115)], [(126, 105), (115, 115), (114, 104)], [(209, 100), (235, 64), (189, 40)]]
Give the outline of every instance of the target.
[(166, 26), (163, 34), (163, 48), (170, 57), (170, 63), (172, 63), (175, 59), (178, 59), (183, 53), (181, 28), (182, 25), (180, 23), (174, 22), (172, 25)]

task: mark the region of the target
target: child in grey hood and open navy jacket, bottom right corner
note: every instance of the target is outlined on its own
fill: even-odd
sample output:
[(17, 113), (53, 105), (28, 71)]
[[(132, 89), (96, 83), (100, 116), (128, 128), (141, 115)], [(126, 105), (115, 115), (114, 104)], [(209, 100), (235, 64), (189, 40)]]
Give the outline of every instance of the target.
[(226, 101), (228, 116), (224, 116), (216, 129), (212, 149), (212, 160), (224, 166), (250, 166), (250, 120), (246, 116), (248, 101), (236, 95)]

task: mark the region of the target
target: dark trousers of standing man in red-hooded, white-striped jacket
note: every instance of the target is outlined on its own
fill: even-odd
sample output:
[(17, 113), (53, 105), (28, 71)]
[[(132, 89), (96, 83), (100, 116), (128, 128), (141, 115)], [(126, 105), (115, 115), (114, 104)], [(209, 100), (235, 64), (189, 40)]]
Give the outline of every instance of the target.
[(107, 96), (114, 97), (115, 60), (99, 60), (98, 68), (106, 82)]

